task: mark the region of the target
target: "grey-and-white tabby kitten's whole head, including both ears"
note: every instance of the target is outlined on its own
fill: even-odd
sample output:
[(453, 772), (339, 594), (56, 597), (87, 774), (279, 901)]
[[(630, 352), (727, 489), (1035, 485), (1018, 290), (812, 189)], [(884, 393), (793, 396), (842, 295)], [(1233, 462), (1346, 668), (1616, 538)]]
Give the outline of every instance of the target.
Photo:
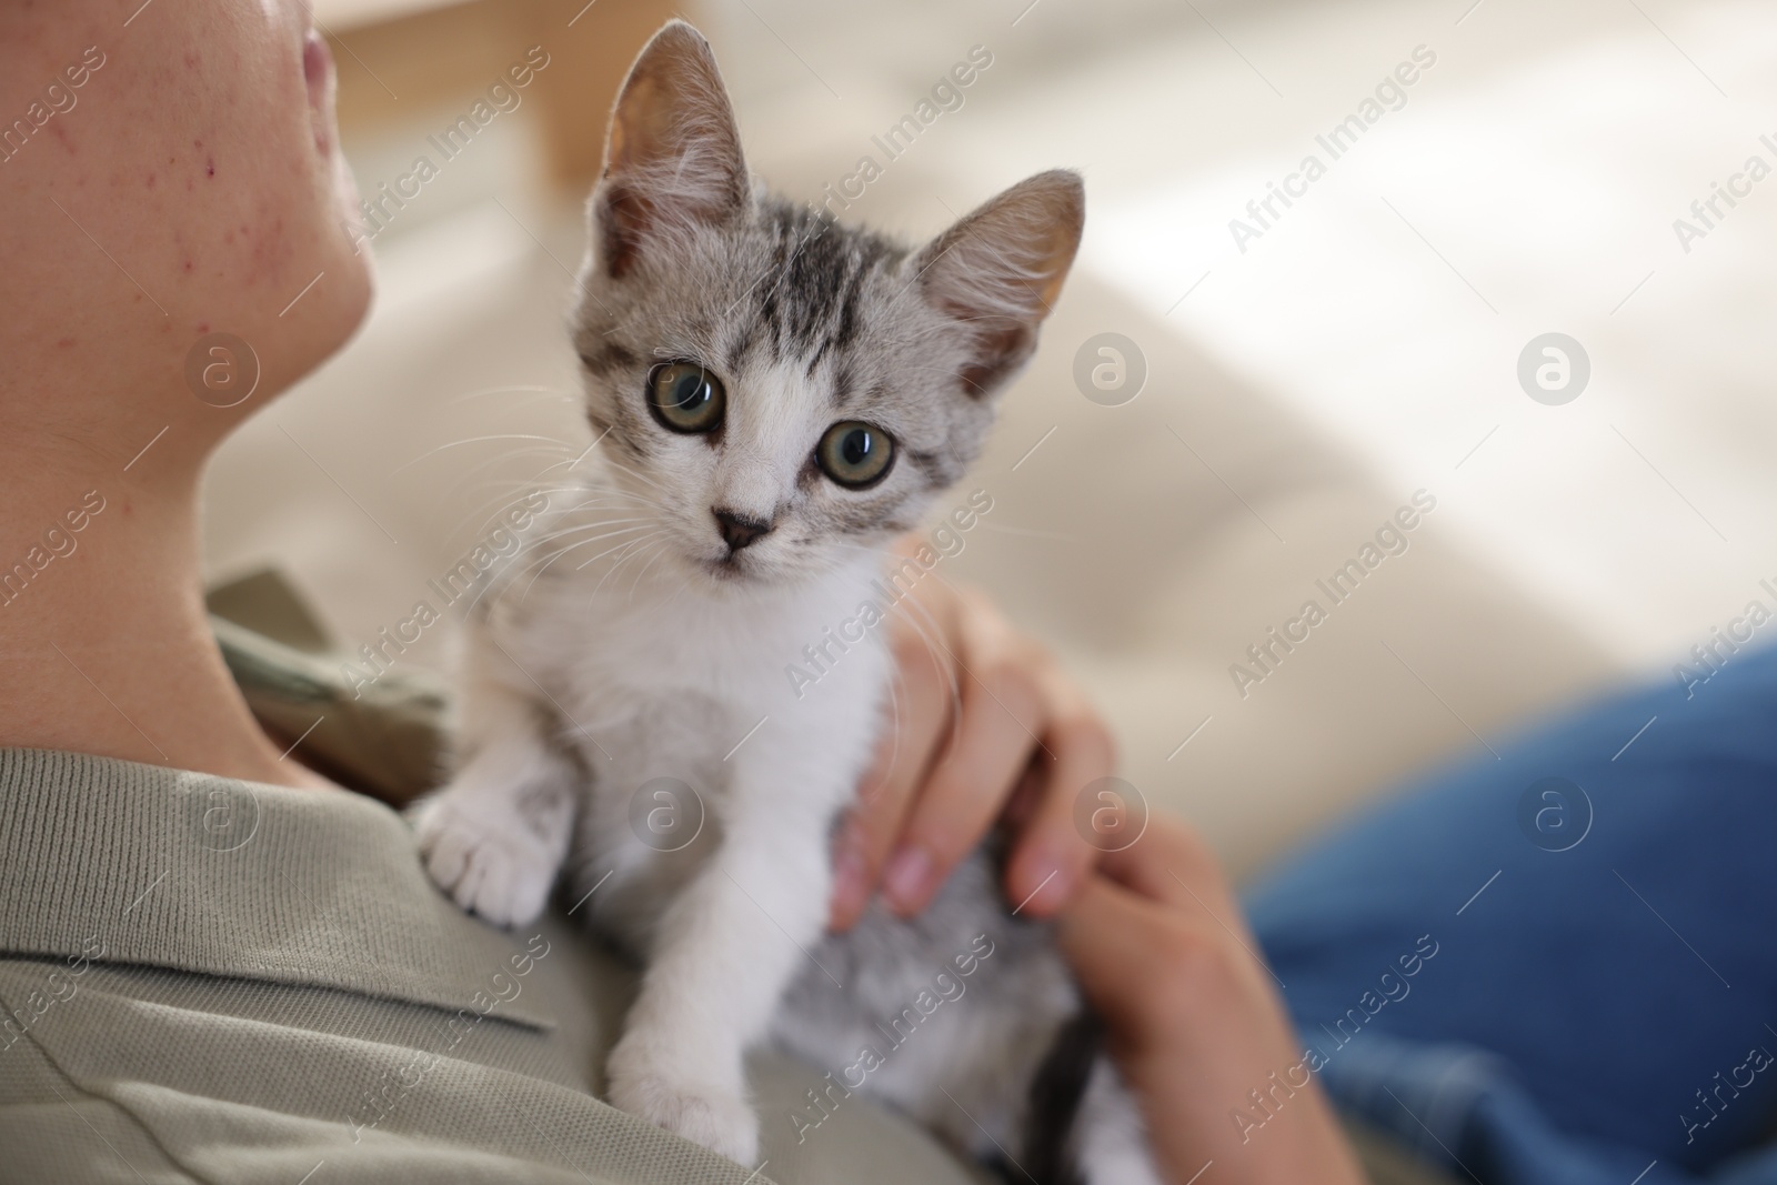
[(912, 529), (979, 451), (1080, 219), (1064, 172), (920, 251), (757, 197), (709, 46), (668, 25), (611, 121), (574, 325), (624, 513), (716, 585)]

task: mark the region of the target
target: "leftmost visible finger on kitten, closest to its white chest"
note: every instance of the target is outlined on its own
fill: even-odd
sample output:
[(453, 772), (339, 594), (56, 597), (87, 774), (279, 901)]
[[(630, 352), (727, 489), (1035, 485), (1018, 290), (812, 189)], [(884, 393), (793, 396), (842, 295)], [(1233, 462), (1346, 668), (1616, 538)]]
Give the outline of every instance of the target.
[(858, 787), (858, 801), (841, 828), (833, 855), (830, 926), (835, 931), (851, 929), (864, 915), (913, 807), (913, 792), (926, 780), (954, 720), (958, 691), (951, 661), (928, 638), (942, 625), (938, 620), (896, 631), (894, 718), (878, 741), (876, 759)]

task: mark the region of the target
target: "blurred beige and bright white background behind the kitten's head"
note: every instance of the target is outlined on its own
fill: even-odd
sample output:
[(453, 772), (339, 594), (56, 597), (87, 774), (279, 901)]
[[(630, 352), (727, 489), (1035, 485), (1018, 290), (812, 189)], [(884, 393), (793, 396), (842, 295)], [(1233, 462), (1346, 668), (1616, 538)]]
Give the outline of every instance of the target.
[[(1587, 693), (1706, 673), (1692, 647), (1777, 609), (1770, 5), (315, 11), (363, 195), (416, 195), (379, 213), (357, 343), (213, 464), (208, 554), (217, 581), (284, 569), (347, 648), (590, 442), (562, 329), (581, 203), (622, 73), (673, 14), (714, 43), (773, 188), (825, 199), (881, 165), (846, 220), (922, 238), (1040, 169), (1086, 174), (1080, 261), (970, 481), (993, 512), (938, 570), (1066, 659), (1128, 780), (1237, 872)], [(446, 158), (435, 137), (533, 46), (517, 107)], [(873, 137), (972, 50), (992, 64), (961, 107), (887, 160)], [(435, 176), (403, 181), (421, 156)], [(1267, 210), (1274, 187), (1294, 195)], [(1526, 386), (1551, 332), (1567, 382)], [(1367, 556), (1422, 490), (1407, 549)], [(1342, 602), (1317, 586), (1377, 554)], [(1326, 620), (1271, 643), (1310, 599)], [(402, 663), (444, 668), (448, 641)]]

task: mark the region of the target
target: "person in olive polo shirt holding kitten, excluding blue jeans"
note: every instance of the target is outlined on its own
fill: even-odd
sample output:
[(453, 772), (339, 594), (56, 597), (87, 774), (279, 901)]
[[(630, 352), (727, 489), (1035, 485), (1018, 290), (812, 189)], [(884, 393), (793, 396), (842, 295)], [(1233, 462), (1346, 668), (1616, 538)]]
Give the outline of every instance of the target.
[[(391, 807), (334, 780), (400, 799), (425, 760), (334, 750), (323, 776), (259, 723), (347, 712), (199, 590), (204, 458), (370, 298), (306, 5), (0, 4), (0, 1180), (967, 1180), (864, 1103), (801, 1144), (768, 1123), (761, 1165), (601, 1103), (624, 968), (562, 915), (460, 915)], [(204, 389), (256, 368), (251, 398), (197, 398), (194, 350)], [(986, 602), (924, 595), (944, 656), (899, 643), (906, 712), (841, 842), (835, 924), (885, 865), (922, 908), (1027, 782), (1008, 895), (1066, 908), (1167, 1173), (1358, 1180), (1313, 1084), (1239, 1148), (1224, 1100), (1297, 1052), (1214, 860), (1162, 821), (1095, 872), (1070, 814), (1111, 769), (1104, 725)], [(354, 727), (418, 711), (382, 709)], [(819, 1075), (755, 1078), (789, 1109)]]

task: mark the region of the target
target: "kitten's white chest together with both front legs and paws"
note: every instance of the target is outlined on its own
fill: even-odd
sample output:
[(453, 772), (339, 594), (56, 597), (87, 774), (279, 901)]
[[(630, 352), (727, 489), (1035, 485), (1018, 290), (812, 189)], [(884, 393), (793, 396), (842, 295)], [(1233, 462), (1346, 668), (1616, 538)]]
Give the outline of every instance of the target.
[[(434, 878), (489, 920), (533, 919), (563, 863), (597, 887), (588, 915), (647, 958), (611, 1101), (743, 1162), (741, 1057), (821, 934), (828, 830), (888, 689), (880, 627), (830, 647), (814, 684), (789, 668), (871, 599), (878, 565), (860, 549), (794, 585), (620, 561), (505, 581), (466, 631), (466, 760), (416, 819)], [(704, 815), (679, 851), (634, 826), (663, 778)]]

